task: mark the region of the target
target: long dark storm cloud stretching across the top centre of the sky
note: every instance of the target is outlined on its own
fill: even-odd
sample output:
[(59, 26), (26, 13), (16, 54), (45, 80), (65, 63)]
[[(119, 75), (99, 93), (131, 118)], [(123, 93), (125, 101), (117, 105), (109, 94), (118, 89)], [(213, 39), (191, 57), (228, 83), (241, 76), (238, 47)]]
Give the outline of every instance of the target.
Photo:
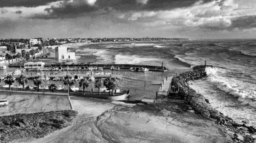
[[(46, 8), (49, 14), (34, 15), (32, 18), (53, 19), (65, 17), (79, 17), (83, 14), (104, 14), (112, 10), (117, 11), (151, 11), (151, 10), (167, 10), (173, 8), (191, 6), (199, 0), (96, 0), (94, 5), (90, 5), (86, 0), (74, 0), (73, 3), (64, 2), (60, 7)], [(212, 0), (203, 0), (204, 3)]]

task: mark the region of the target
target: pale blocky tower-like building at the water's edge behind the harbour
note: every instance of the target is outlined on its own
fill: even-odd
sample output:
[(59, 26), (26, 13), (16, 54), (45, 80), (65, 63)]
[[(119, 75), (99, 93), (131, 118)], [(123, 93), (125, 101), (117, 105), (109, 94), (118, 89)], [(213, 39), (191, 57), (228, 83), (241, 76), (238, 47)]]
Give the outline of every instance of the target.
[(70, 52), (65, 46), (56, 47), (55, 59), (76, 59), (76, 53)]

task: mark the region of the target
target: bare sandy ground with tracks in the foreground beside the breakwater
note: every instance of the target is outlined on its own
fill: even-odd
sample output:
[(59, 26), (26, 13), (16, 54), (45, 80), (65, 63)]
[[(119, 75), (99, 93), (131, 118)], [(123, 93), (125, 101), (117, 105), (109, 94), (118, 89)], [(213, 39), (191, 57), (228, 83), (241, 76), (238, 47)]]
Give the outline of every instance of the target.
[[(119, 104), (71, 97), (79, 116), (65, 129), (41, 139), (15, 143), (227, 143), (223, 126), (194, 113), (181, 100), (157, 104)], [(113, 104), (115, 103), (115, 104)]]

